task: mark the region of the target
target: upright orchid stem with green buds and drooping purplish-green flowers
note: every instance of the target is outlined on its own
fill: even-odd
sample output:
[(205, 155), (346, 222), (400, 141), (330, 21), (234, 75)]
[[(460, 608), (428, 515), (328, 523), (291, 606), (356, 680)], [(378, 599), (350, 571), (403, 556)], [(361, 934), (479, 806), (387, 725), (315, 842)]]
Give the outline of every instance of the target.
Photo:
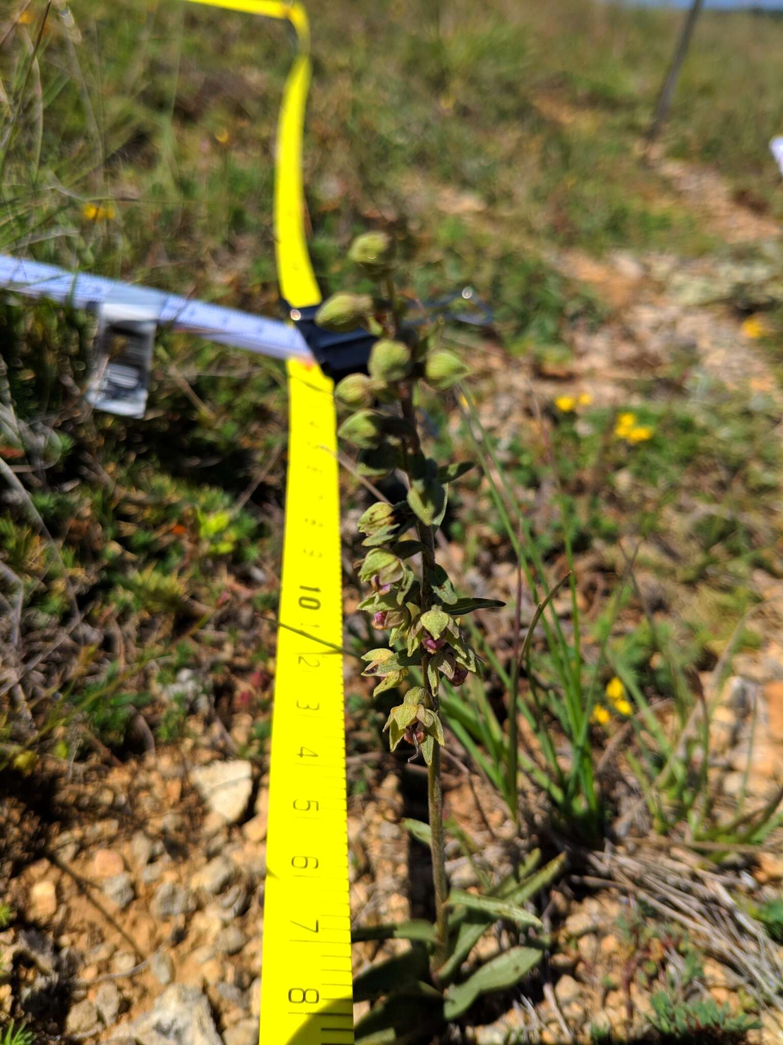
[(370, 588), (359, 608), (371, 616), (375, 629), (387, 632), (385, 644), (363, 656), (363, 674), (378, 679), (374, 695), (416, 683), (392, 709), (385, 729), (393, 751), (410, 744), (411, 761), (421, 756), (428, 767), (437, 963), (445, 960), (448, 944), (441, 776), (445, 735), (438, 693), (444, 680), (459, 687), (480, 672), (460, 618), (503, 603), (458, 598), (435, 558), (449, 485), (472, 464), (438, 463), (427, 455), (417, 412), (419, 386), (423, 381), (434, 392), (446, 392), (468, 374), (468, 367), (440, 347), (441, 325), (405, 322), (407, 305), (395, 286), (396, 252), (388, 235), (359, 236), (349, 257), (373, 279), (376, 294), (335, 294), (322, 305), (316, 322), (337, 331), (364, 326), (377, 336), (369, 373), (351, 374), (335, 389), (338, 403), (351, 411), (338, 435), (358, 448), (360, 475), (377, 480), (397, 471), (407, 486), (405, 501), (377, 502), (358, 521), (367, 550), (357, 564), (358, 576)]

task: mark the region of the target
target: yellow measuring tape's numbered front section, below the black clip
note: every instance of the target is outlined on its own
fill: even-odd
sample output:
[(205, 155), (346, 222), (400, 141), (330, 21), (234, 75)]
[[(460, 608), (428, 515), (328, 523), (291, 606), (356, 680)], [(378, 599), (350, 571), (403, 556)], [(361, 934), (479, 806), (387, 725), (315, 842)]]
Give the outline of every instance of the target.
[[(282, 624), (342, 642), (332, 382), (288, 363)], [(354, 1040), (342, 657), (281, 628), (272, 712), (260, 1045)]]

